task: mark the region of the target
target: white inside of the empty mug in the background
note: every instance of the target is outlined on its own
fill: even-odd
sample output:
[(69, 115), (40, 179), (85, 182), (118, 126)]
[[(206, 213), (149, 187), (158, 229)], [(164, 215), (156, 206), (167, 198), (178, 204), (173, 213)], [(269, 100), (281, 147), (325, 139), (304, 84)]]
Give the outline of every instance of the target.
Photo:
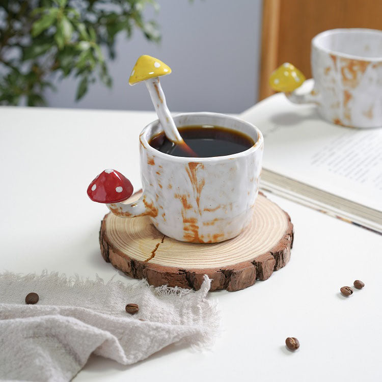
[(318, 34), (312, 44), (318, 49), (351, 59), (382, 61), (382, 31), (334, 29)]

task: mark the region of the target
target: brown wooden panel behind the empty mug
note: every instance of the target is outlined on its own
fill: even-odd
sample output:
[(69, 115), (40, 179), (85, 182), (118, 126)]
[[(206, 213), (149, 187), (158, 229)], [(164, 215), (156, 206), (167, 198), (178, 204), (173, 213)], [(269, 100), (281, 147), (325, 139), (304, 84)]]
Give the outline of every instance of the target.
[(269, 74), (290, 62), (312, 76), (310, 44), (335, 28), (382, 29), (381, 0), (264, 0), (259, 99), (273, 94)]

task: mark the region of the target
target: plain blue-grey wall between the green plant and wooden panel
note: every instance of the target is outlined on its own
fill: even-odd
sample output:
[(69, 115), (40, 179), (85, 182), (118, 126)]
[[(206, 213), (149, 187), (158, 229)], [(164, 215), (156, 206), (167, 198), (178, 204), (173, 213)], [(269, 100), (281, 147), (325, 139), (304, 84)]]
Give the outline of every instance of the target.
[[(168, 64), (161, 84), (171, 111), (239, 113), (257, 99), (261, 0), (158, 0), (162, 41), (149, 43), (140, 31), (119, 36), (110, 62), (113, 88), (93, 85), (74, 102), (76, 83), (67, 79), (49, 92), (49, 106), (153, 110), (143, 84), (130, 87), (130, 71), (141, 54)], [(153, 15), (148, 10), (148, 16)]]

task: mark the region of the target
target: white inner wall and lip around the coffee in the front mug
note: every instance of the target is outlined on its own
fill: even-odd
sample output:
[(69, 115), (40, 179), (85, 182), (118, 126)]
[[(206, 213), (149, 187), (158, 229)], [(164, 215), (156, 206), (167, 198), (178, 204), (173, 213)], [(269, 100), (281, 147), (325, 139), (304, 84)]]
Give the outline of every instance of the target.
[[(184, 114), (178, 114), (174, 116), (174, 122), (177, 127), (184, 127), (184, 126), (195, 126), (195, 125), (209, 125), (209, 126), (221, 126), (226, 127), (228, 129), (232, 129), (235, 131), (242, 132), (244, 134), (247, 134), (252, 140), (255, 142), (255, 144), (249, 148), (248, 150), (241, 151), (236, 154), (231, 155), (225, 155), (225, 156), (214, 156), (214, 157), (201, 157), (201, 158), (193, 158), (193, 160), (217, 160), (222, 158), (232, 158), (235, 156), (240, 156), (243, 153), (247, 153), (252, 150), (256, 150), (260, 145), (259, 143), (262, 142), (263, 137), (260, 132), (260, 130), (252, 125), (249, 122), (242, 121), (238, 118), (230, 117), (224, 114), (219, 113), (184, 113)], [(145, 146), (148, 150), (153, 150), (156, 155), (166, 155), (167, 157), (171, 157), (172, 160), (174, 158), (179, 159), (187, 159), (187, 157), (180, 157), (180, 156), (173, 156), (166, 153), (162, 153), (161, 151), (158, 151), (151, 147), (148, 142), (151, 138), (153, 138), (155, 135), (159, 134), (163, 131), (163, 128), (159, 121), (154, 121), (150, 123), (148, 126), (144, 128), (144, 130), (141, 133), (141, 137), (143, 138), (145, 142)]]

